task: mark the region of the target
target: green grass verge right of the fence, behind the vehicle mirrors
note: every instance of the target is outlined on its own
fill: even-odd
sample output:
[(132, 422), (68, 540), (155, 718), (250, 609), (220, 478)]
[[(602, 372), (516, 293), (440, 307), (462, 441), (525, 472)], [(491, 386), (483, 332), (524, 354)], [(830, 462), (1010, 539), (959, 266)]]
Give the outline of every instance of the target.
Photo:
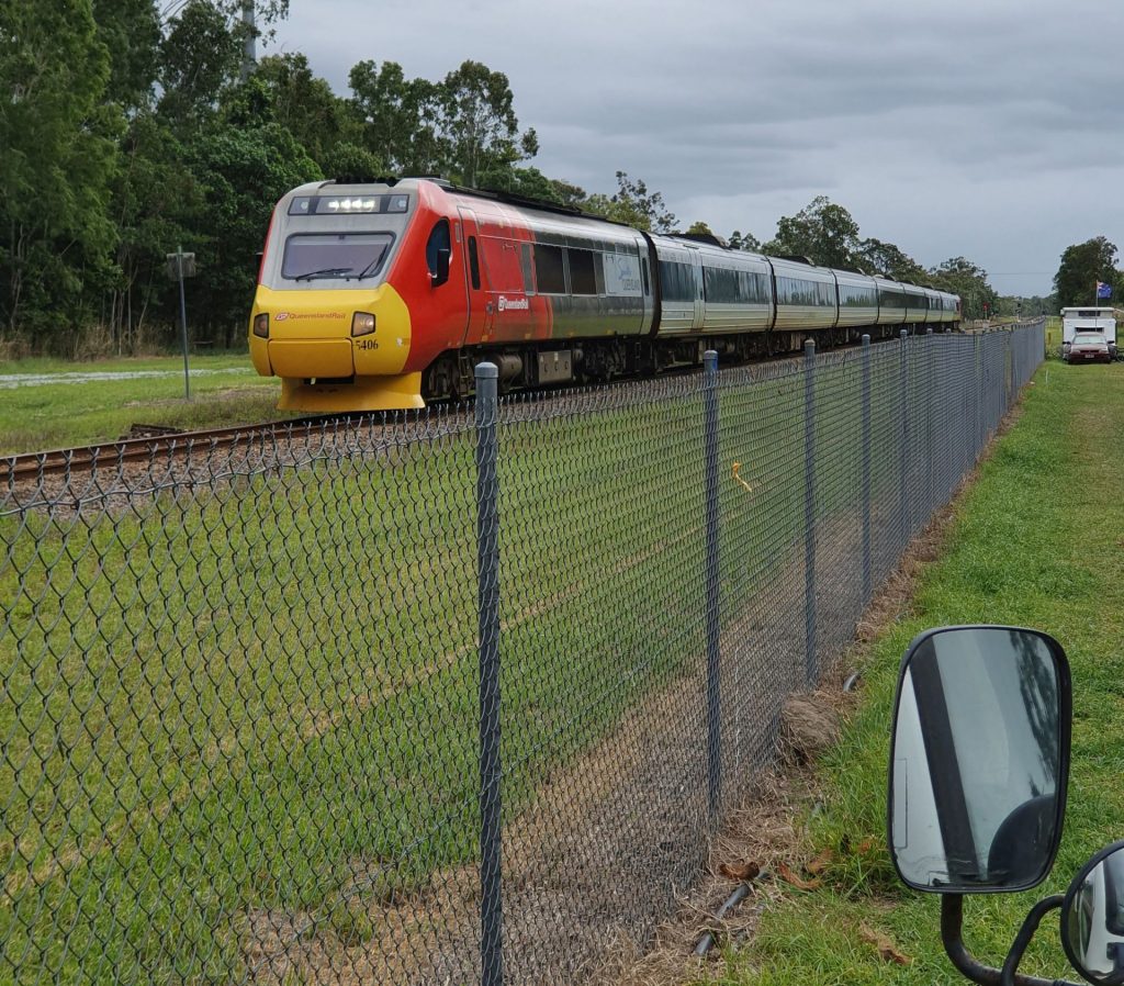
[[(1124, 488), (1124, 373), (1040, 370), (1018, 425), (958, 505), (948, 551), (925, 573), (910, 613), (872, 648), (862, 705), (818, 772), (823, 811), (808, 813), (810, 851), (831, 850), (825, 885), (768, 907), (753, 942), (727, 951), (724, 984), (960, 984), (940, 942), (940, 902), (900, 887), (885, 847), (886, 765), (898, 661), (927, 626), (1037, 626), (1066, 646), (1073, 675), (1073, 747), (1064, 838), (1053, 875), (1028, 894), (972, 898), (964, 937), (1001, 965), (1031, 904), (1063, 892), (1081, 862), (1120, 838), (1124, 753), (1124, 563), (1115, 505)], [(872, 840), (862, 856), (855, 847)], [(914, 959), (881, 960), (860, 929)], [(1075, 978), (1048, 917), (1021, 971)]]

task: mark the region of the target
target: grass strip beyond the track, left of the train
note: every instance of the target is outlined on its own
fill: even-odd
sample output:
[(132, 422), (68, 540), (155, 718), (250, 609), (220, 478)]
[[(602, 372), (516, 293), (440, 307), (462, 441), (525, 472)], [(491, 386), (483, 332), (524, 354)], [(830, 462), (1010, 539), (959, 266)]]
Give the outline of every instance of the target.
[[(0, 377), (58, 376), (58, 382), (0, 390), (0, 455), (111, 442), (133, 424), (182, 429), (285, 417), (275, 409), (280, 381), (259, 377), (245, 353), (192, 355), (192, 399), (183, 397), (183, 359), (155, 356), (70, 363), (35, 359), (0, 363)], [(162, 372), (164, 377), (66, 382), (73, 373)]]

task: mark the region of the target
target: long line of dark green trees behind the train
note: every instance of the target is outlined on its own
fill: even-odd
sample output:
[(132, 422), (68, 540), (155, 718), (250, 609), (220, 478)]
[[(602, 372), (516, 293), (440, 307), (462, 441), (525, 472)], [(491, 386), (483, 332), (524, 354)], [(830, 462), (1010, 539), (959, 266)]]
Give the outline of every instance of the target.
[[(165, 255), (197, 255), (191, 332), (242, 345), (275, 201), (324, 178), (442, 174), (673, 232), (660, 192), (625, 171), (611, 193), (543, 174), (502, 72), (464, 61), (439, 80), (363, 61), (339, 96), (299, 52), (245, 60), (288, 0), (9, 0), (0, 4), (0, 337), (9, 352), (136, 352), (174, 337)], [(252, 71), (250, 71), (252, 67)], [(703, 224), (690, 227), (709, 232)], [(925, 269), (814, 199), (768, 242), (731, 246), (930, 283), (996, 311), (964, 257)], [(1115, 247), (1114, 247), (1115, 250)]]

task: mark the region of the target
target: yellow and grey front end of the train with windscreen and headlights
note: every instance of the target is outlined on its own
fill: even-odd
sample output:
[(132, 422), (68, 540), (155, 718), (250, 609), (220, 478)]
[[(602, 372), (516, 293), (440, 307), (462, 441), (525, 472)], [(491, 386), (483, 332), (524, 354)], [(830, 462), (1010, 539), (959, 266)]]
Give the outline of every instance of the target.
[(254, 368), (281, 378), (278, 407), (425, 406), (410, 310), (391, 277), (420, 210), (416, 187), (386, 184), (318, 182), (278, 202), (250, 319)]

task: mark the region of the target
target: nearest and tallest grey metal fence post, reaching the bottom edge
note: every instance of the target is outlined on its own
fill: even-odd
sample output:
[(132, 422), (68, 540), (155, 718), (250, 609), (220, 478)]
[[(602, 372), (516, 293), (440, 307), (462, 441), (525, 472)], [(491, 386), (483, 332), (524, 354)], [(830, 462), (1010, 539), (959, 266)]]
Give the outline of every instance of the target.
[(477, 383), (477, 549), (480, 605), (480, 964), (481, 986), (504, 983), (499, 733), (499, 371), (480, 363)]

